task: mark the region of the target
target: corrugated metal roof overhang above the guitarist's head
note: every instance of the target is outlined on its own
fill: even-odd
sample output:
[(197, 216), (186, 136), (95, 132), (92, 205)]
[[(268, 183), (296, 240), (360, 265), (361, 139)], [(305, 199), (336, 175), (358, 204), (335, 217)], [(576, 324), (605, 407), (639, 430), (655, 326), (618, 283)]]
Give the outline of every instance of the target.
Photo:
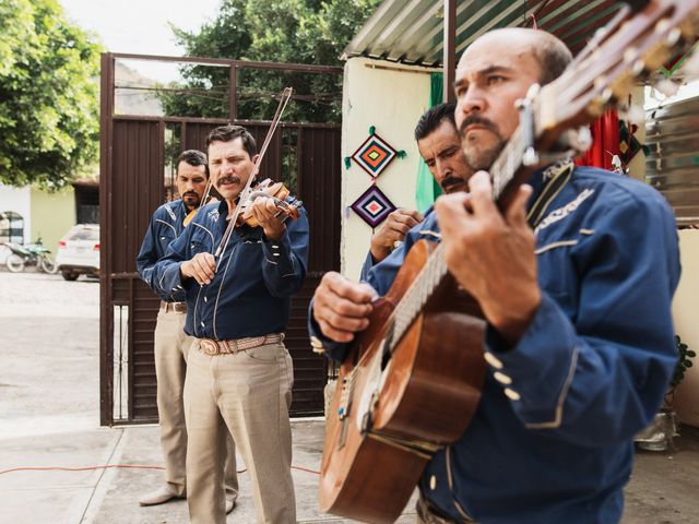
[[(386, 0), (345, 48), (344, 58), (364, 56), (440, 67), (443, 0)], [(613, 0), (464, 0), (457, 4), (457, 57), (483, 33), (532, 26), (562, 39), (578, 52), (623, 2)]]

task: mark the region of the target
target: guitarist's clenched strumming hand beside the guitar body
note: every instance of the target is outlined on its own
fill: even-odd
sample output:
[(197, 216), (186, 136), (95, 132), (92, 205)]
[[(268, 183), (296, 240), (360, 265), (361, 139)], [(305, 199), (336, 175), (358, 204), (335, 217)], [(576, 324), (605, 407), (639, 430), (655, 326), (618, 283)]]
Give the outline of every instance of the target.
[(376, 291), (333, 271), (325, 273), (313, 295), (313, 319), (320, 331), (335, 342), (352, 342), (357, 331), (369, 325)]

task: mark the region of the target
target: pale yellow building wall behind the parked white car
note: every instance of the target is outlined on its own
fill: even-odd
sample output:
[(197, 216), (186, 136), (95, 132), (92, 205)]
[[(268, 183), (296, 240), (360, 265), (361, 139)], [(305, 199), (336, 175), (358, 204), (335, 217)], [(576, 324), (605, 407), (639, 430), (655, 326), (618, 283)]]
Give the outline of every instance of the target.
[(54, 257), (60, 238), (75, 225), (75, 194), (73, 188), (56, 193), (32, 188), (32, 238), (39, 236)]

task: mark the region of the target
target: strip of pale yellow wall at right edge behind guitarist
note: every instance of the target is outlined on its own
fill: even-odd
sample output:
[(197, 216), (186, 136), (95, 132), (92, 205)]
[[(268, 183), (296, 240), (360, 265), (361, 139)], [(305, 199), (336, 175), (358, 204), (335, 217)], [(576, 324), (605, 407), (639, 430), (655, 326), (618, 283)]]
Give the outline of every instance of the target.
[[(673, 302), (675, 331), (683, 342), (699, 354), (699, 230), (679, 231), (682, 279)], [(674, 407), (679, 419), (699, 427), (699, 357), (694, 359), (685, 380), (677, 389)]]

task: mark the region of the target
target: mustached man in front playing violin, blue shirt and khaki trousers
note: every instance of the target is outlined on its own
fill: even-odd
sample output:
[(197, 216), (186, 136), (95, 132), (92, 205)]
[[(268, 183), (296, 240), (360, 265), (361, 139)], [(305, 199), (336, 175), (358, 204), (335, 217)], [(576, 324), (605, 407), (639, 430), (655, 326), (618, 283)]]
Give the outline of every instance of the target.
[[(162, 295), (185, 291), (192, 336), (185, 383), (187, 502), (192, 523), (224, 523), (223, 458), (229, 432), (253, 486), (258, 522), (294, 523), (288, 407), (294, 371), (284, 346), (291, 297), (308, 262), (308, 218), (285, 221), (273, 199), (240, 203), (258, 160), (239, 126), (206, 138), (213, 186), (223, 201), (203, 207), (156, 265)], [(293, 198), (287, 203), (296, 202)], [(238, 205), (241, 225), (222, 242)]]

